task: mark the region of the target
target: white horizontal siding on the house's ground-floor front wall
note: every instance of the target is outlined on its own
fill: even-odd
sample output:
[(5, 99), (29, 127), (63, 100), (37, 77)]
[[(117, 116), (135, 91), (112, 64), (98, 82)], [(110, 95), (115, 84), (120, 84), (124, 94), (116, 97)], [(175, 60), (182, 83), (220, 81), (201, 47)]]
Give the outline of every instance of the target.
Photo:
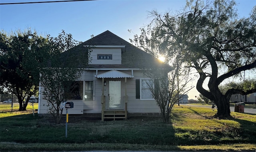
[[(103, 73), (106, 71), (98, 71), (98, 73)], [(124, 73), (131, 74), (131, 70), (122, 71)], [(136, 79), (146, 78), (143, 76), (141, 71), (134, 70), (134, 78), (127, 78), (126, 89), (128, 95), (127, 110), (128, 113), (160, 113), (159, 107), (156, 105), (154, 100), (140, 100), (136, 99)], [(72, 100), (74, 103), (73, 109), (68, 109), (69, 114), (83, 114), (83, 113), (101, 113), (102, 104), (102, 79), (94, 77), (96, 75), (96, 70), (84, 71), (80, 81), (94, 81), (94, 90), (93, 90), (93, 101), (76, 101)], [(116, 78), (109, 79), (105, 78), (106, 86), (104, 86), (104, 95), (106, 96), (106, 108), (108, 108), (108, 81), (121, 81), (121, 101), (123, 103), (122, 109), (125, 108), (125, 79)], [(42, 88), (43, 89), (43, 88)], [(47, 113), (48, 107), (46, 106), (47, 102), (43, 99), (41, 95), (40, 99), (40, 113)], [(66, 113), (66, 110), (63, 111)]]

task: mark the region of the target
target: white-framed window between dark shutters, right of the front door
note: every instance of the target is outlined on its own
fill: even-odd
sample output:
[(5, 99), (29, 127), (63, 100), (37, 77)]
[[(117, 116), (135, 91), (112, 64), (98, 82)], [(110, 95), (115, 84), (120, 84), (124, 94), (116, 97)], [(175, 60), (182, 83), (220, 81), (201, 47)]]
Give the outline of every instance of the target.
[(154, 99), (150, 87), (154, 88), (152, 79), (140, 79), (140, 99)]

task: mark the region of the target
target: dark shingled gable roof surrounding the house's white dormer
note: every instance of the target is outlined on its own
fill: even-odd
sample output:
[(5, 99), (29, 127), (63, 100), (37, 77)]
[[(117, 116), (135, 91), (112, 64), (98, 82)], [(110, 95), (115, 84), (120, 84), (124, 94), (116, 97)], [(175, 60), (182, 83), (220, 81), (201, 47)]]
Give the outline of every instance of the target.
[[(125, 41), (124, 39), (116, 36), (110, 31), (105, 31), (91, 39), (88, 39), (87, 41), (77, 45), (72, 50), (72, 54), (79, 54), (84, 51), (78, 51), (79, 49), (76, 48), (82, 48), (85, 45), (90, 46), (96, 46), (96, 45), (115, 45), (115, 46), (125, 46), (122, 48), (122, 64), (116, 64), (116, 65), (102, 65), (102, 64), (89, 64), (86, 68), (159, 68), (159, 67), (165, 67), (170, 68), (170, 65), (164, 64), (156, 57), (153, 57), (152, 55), (146, 53), (142, 49), (139, 49), (138, 47), (130, 44), (129, 42)], [(65, 52), (64, 52), (65, 53)], [(79, 57), (80, 55), (78, 55)], [(79, 64), (79, 63), (78, 63)], [(79, 65), (78, 65), (79, 67)]]

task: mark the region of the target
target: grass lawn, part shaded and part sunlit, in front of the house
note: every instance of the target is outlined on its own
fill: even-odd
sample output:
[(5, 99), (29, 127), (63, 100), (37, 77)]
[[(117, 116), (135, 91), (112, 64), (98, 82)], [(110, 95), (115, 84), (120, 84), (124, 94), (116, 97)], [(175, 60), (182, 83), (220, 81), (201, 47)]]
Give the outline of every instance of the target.
[(30, 105), (26, 112), (18, 112), (18, 105), (10, 112), (10, 106), (0, 105), (1, 152), (256, 149), (256, 114), (232, 112), (232, 118), (218, 119), (209, 108), (182, 105), (174, 107), (170, 124), (152, 117), (102, 122), (70, 115), (66, 138), (65, 117), (55, 124), (52, 118), (33, 116)]

